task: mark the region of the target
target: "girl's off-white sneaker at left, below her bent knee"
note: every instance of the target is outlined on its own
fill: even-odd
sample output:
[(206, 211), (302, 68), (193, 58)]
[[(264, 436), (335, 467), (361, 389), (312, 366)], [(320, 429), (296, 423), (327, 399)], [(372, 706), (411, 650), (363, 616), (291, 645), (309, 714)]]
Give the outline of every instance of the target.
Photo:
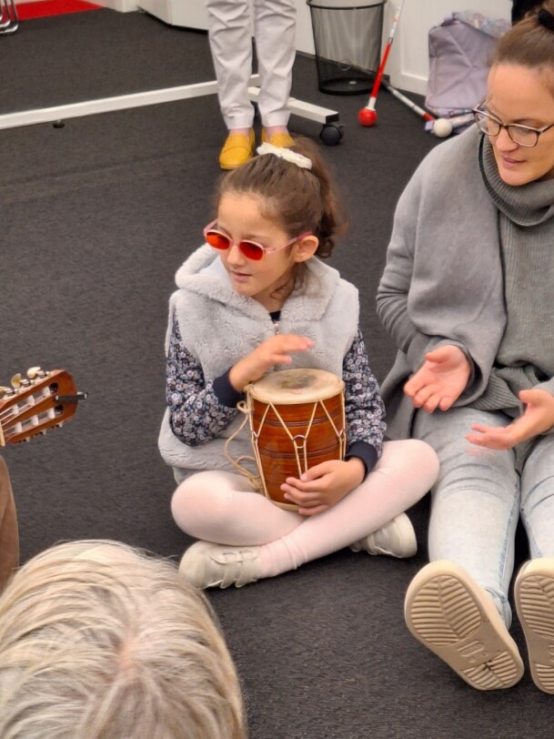
[(179, 574), (199, 589), (241, 588), (256, 582), (259, 572), (257, 547), (231, 547), (212, 542), (196, 542), (179, 564)]

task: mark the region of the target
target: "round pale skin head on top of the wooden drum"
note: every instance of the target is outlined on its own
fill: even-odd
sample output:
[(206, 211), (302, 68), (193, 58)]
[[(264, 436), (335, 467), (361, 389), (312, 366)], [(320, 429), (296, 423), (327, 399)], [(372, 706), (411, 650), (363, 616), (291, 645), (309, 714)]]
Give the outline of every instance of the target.
[(334, 398), (344, 382), (324, 369), (283, 369), (257, 380), (250, 388), (253, 398), (263, 403), (289, 405)]

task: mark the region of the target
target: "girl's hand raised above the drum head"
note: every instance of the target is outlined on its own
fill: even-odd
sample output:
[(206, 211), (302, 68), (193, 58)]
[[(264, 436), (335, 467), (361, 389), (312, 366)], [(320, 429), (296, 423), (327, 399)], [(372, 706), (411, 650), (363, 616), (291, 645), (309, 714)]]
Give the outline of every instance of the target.
[(231, 385), (242, 392), (249, 382), (263, 377), (276, 364), (290, 364), (291, 354), (307, 351), (314, 346), (311, 339), (296, 334), (277, 334), (263, 341), (244, 359), (240, 359), (229, 372)]

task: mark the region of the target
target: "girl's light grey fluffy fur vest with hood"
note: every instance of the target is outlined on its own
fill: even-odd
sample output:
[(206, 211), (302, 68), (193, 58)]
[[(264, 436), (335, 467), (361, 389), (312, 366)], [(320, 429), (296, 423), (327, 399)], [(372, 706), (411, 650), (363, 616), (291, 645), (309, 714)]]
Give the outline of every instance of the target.
[[(257, 300), (237, 294), (212, 248), (201, 247), (186, 260), (177, 270), (176, 285), (178, 289), (169, 300), (166, 350), (175, 315), (186, 349), (202, 366), (206, 382), (215, 380), (275, 335), (267, 310)], [(358, 290), (340, 278), (337, 269), (317, 258), (309, 259), (305, 289), (287, 299), (278, 330), (306, 336), (314, 347), (293, 358), (287, 369), (327, 369), (341, 377), (343, 359), (358, 332), (358, 318)], [(224, 445), (242, 420), (237, 412), (237, 418), (216, 439), (189, 447), (171, 430), (166, 410), (158, 443), (163, 459), (175, 469), (176, 479), (183, 480), (193, 471), (234, 471)], [(229, 451), (234, 459), (252, 454), (248, 424), (232, 441)]]

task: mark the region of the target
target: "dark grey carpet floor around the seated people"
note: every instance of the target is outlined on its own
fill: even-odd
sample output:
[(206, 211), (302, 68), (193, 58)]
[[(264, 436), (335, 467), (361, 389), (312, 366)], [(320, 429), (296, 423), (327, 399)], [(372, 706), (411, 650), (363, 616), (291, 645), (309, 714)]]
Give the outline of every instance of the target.
[[(213, 78), (206, 35), (109, 10), (22, 23), (0, 38), (0, 115)], [(361, 294), (382, 380), (394, 351), (375, 315), (395, 203), (437, 140), (382, 91), (317, 89), (299, 56), (293, 95), (337, 109), (345, 136), (324, 154), (350, 229), (332, 259)], [(300, 117), (291, 129), (317, 138)], [(0, 131), (0, 383), (32, 365), (68, 369), (88, 400), (61, 430), (3, 450), (23, 560), (54, 542), (106, 537), (178, 558), (174, 488), (156, 437), (164, 410), (167, 299), (213, 218), (225, 130), (215, 96)], [(455, 197), (455, 183), (453, 183)], [(437, 214), (440, 218), (440, 214)], [(426, 562), (428, 501), (412, 511), (410, 561), (349, 551), (241, 590), (210, 592), (243, 683), (252, 739), (549, 737), (551, 699), (529, 673), (478, 693), (409, 635), (410, 579)], [(524, 651), (516, 623), (513, 634)]]

